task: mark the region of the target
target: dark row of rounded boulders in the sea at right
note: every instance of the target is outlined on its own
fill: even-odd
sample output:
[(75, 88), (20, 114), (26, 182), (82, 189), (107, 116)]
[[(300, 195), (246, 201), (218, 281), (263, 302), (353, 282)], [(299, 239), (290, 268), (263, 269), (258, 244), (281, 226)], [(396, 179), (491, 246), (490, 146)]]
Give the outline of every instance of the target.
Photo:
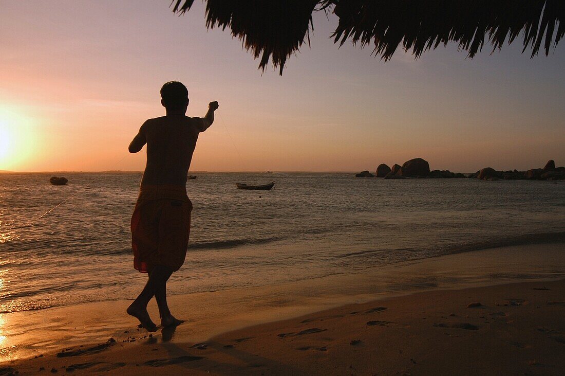
[(449, 170), (429, 169), (428, 161), (422, 158), (410, 159), (402, 166), (393, 165), (392, 168), (382, 163), (377, 167), (376, 174), (369, 171), (355, 174), (356, 178), (384, 178), (384, 179), (405, 179), (405, 178), (477, 178), (482, 180), (498, 179), (534, 179), (534, 180), (559, 180), (565, 179), (565, 167), (555, 167), (555, 162), (550, 160), (544, 168), (532, 168), (528, 171), (496, 171), (494, 168), (486, 167), (474, 174), (462, 174), (461, 172), (451, 172)]

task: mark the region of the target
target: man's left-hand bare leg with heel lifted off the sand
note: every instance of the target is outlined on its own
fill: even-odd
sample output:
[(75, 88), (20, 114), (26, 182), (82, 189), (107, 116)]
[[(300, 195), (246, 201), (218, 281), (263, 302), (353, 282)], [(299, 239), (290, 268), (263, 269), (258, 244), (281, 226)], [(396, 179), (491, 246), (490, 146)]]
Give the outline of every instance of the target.
[(166, 266), (156, 265), (153, 267), (144, 289), (127, 309), (127, 313), (136, 317), (147, 331), (157, 330), (157, 326), (151, 321), (149, 313), (147, 313), (147, 304), (158, 291), (166, 288), (167, 280), (171, 274), (172, 270)]

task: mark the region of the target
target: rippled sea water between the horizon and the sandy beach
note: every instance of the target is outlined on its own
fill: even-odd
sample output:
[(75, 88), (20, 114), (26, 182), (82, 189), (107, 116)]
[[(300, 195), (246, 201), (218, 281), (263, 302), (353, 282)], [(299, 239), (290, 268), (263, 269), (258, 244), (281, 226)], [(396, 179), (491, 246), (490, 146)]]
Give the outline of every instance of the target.
[[(50, 176), (0, 174), (0, 313), (133, 299), (146, 278), (133, 269), (129, 232), (141, 173), (70, 173), (63, 187)], [(235, 187), (272, 180), (272, 191)], [(170, 293), (565, 241), (563, 182), (201, 173), (186, 186), (190, 243)]]

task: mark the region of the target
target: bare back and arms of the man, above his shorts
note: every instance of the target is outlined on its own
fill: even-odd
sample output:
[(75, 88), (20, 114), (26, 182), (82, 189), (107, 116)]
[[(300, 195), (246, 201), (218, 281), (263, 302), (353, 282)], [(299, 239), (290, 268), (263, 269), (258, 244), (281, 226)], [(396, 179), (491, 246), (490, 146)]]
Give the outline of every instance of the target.
[(198, 140), (198, 134), (206, 131), (214, 122), (214, 110), (218, 102), (211, 102), (204, 118), (189, 118), (184, 113), (169, 114), (149, 119), (129, 145), (131, 153), (137, 153), (147, 144), (147, 164), (141, 179), (144, 185), (184, 185), (186, 173)]

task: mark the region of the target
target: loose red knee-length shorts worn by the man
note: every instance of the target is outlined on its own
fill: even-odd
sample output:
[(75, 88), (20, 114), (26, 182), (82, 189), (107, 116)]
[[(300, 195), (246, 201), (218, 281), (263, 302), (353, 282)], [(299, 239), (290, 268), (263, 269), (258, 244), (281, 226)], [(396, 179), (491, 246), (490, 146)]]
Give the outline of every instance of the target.
[(177, 271), (184, 263), (192, 202), (177, 185), (141, 187), (132, 215), (133, 267), (141, 273), (155, 265)]

